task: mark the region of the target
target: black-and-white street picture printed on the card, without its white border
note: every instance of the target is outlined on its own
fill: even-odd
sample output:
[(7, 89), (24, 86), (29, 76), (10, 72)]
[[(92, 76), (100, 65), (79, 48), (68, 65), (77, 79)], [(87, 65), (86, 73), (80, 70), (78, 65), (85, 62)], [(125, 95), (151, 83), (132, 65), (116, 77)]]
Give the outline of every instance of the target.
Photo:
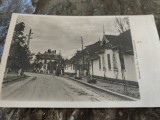
[(139, 100), (129, 19), (19, 16), (1, 99)]

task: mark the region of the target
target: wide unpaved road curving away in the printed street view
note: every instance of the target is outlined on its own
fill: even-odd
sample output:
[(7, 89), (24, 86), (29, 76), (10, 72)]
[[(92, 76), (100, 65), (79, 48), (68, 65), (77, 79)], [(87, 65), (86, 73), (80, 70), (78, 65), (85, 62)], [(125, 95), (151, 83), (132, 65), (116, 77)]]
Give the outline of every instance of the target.
[[(2, 88), (2, 99), (40, 101), (122, 100), (64, 77), (36, 73), (26, 74), (31, 77), (4, 85)], [(33, 77), (36, 77), (36, 79), (31, 80)]]

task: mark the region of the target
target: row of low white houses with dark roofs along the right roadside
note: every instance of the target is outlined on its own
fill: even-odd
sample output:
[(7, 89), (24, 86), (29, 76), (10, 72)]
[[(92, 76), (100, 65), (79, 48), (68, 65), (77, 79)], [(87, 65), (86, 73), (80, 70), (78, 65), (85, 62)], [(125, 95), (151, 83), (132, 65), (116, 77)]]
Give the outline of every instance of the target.
[(103, 35), (65, 61), (65, 74), (93, 76), (106, 80), (124, 80), (137, 84), (134, 51), (130, 30), (120, 35)]

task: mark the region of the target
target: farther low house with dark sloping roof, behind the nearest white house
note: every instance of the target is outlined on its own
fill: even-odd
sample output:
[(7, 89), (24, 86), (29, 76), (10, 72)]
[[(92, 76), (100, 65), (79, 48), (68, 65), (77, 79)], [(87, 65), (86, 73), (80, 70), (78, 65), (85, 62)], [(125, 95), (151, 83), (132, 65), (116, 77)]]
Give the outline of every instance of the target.
[(87, 76), (89, 74), (89, 58), (100, 48), (101, 41), (86, 46), (65, 62), (65, 73), (76, 76)]

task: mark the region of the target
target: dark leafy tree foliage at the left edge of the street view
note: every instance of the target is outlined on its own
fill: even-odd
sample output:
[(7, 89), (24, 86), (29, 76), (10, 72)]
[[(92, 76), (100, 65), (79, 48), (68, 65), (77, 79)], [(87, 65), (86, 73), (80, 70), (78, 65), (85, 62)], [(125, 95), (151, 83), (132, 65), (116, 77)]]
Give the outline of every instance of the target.
[(20, 68), (24, 70), (30, 66), (32, 54), (28, 49), (26, 36), (23, 34), (24, 29), (25, 24), (23, 22), (17, 23), (15, 26), (7, 64), (12, 70)]

